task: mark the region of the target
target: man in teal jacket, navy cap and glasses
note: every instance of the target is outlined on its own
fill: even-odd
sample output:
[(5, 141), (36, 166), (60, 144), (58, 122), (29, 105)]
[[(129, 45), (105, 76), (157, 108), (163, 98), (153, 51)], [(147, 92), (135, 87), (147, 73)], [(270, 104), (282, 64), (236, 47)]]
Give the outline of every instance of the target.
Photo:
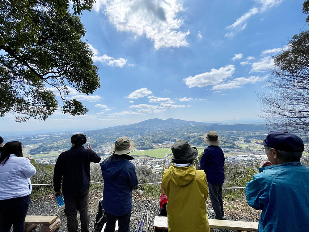
[(259, 232), (309, 231), (309, 167), (300, 163), (303, 140), (282, 131), (270, 131), (264, 145), (268, 161), (246, 183), (252, 208), (261, 209)]

